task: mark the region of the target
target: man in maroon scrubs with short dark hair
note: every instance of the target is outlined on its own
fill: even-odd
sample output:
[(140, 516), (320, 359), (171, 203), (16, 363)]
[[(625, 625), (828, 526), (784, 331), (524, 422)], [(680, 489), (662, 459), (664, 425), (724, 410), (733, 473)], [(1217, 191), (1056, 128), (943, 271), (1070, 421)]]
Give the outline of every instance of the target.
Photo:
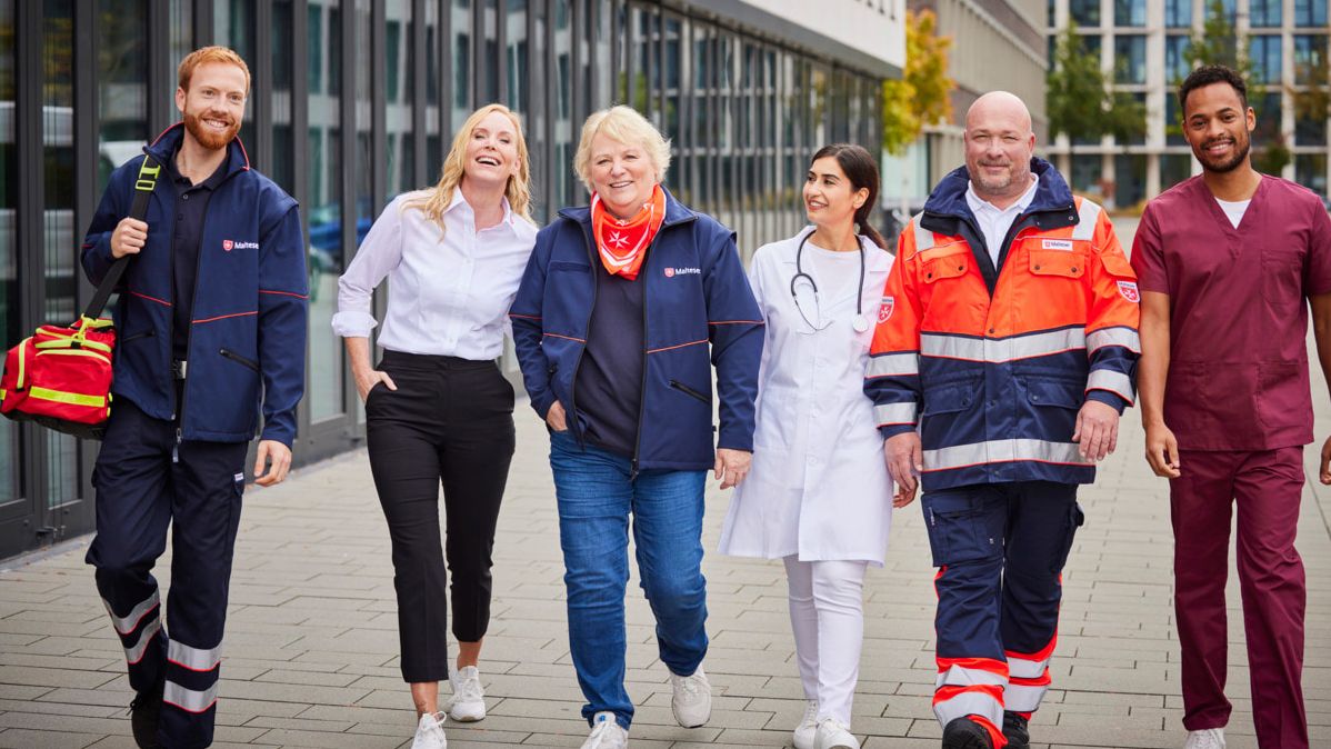
[[(1185, 746), (1225, 746), (1225, 583), (1238, 507), (1258, 744), (1306, 749), (1307, 596), (1294, 548), (1303, 446), (1312, 442), (1304, 299), (1331, 380), (1331, 220), (1314, 193), (1252, 169), (1256, 118), (1238, 73), (1199, 68), (1178, 97), (1202, 174), (1146, 206), (1133, 267), (1146, 459), (1170, 479)], [(1331, 440), (1324, 484), (1328, 460)]]

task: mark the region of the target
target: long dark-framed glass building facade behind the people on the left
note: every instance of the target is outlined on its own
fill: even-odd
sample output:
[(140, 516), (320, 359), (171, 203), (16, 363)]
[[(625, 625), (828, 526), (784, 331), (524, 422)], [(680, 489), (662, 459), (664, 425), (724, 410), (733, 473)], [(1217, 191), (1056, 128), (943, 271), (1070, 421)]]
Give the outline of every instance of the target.
[[(900, 1), (837, 0), (892, 16)], [(882, 65), (747, 25), (720, 4), (624, 0), (0, 0), (0, 330), (68, 321), (91, 287), (77, 251), (110, 170), (177, 118), (176, 65), (226, 44), (250, 65), (241, 132), (302, 205), (310, 346), (298, 463), (363, 440), (329, 321), (337, 277), (393, 196), (433, 184), (455, 129), (500, 101), (524, 118), (535, 214), (586, 202), (570, 168), (612, 102), (673, 140), (667, 185), (744, 253), (803, 225), (809, 154), (877, 152)], [(788, 24), (789, 25), (789, 24)], [(900, 28), (900, 25), (897, 27)], [(831, 51), (829, 51), (831, 49)], [(385, 301), (377, 301), (379, 309)], [(96, 443), (0, 422), (0, 557), (92, 529)]]

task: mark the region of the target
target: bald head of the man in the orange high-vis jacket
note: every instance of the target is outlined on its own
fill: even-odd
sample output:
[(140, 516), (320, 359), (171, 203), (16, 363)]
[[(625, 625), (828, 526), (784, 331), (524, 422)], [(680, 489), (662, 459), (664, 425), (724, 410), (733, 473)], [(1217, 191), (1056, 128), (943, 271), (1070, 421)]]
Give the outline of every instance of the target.
[(1005, 90), (992, 90), (966, 110), (966, 172), (981, 198), (1008, 208), (1030, 188), (1036, 133), (1026, 104)]

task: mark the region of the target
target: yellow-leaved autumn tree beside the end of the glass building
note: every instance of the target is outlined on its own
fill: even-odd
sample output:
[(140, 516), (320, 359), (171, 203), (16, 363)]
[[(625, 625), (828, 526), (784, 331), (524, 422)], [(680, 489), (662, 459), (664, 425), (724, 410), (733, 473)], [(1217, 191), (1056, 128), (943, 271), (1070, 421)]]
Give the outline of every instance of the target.
[(901, 80), (882, 82), (882, 148), (901, 154), (929, 125), (952, 117), (948, 48), (933, 11), (906, 12), (906, 65)]

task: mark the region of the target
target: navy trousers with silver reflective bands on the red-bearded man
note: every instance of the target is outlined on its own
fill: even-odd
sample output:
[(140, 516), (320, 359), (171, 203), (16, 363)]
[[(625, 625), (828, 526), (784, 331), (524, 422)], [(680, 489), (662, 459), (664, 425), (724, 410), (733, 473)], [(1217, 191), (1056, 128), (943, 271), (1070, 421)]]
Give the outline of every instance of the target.
[[(146, 692), (164, 682), (158, 742), (193, 749), (213, 742), (246, 444), (177, 446), (176, 426), (116, 400), (93, 468), (97, 536), (87, 561), (97, 568), (97, 592), (125, 648), (130, 686)], [(172, 524), (164, 627), (152, 568)]]

